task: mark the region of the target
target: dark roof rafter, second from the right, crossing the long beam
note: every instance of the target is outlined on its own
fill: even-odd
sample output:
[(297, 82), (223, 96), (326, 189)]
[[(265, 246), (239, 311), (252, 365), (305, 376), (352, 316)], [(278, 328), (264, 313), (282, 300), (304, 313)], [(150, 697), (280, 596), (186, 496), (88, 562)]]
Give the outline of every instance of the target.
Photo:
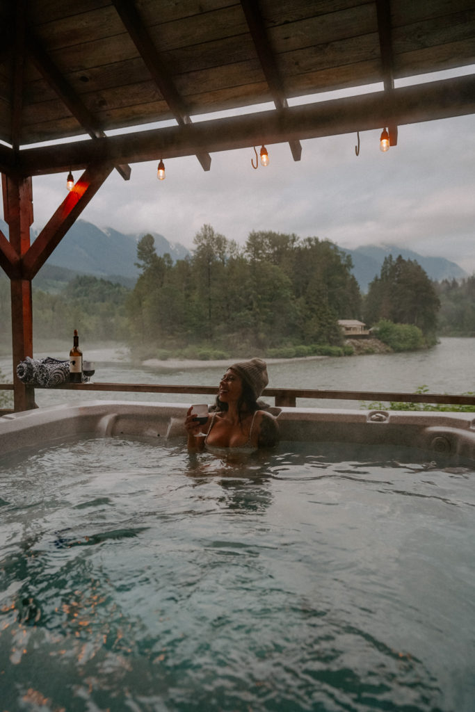
[[(271, 91), (273, 103), (276, 105), (276, 109), (286, 109), (288, 108), (288, 103), (283, 89), (283, 81), (268, 39), (261, 11), (259, 10), (258, 0), (241, 0), (241, 6), (259, 56), (263, 74)], [(293, 140), (289, 142), (289, 146), (291, 147), (294, 161), (300, 161), (302, 155), (301, 142)]]

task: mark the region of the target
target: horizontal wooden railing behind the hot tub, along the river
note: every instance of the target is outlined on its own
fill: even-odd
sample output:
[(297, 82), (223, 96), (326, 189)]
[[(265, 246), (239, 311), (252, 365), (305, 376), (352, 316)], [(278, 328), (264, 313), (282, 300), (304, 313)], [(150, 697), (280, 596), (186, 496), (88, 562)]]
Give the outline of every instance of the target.
[[(0, 390), (13, 390), (11, 383), (0, 383)], [(41, 389), (42, 390), (42, 389)], [(216, 386), (173, 386), (158, 383), (62, 383), (48, 390), (115, 391), (132, 393), (181, 393), (216, 395)], [(296, 407), (297, 398), (320, 400), (390, 401), (475, 406), (475, 396), (442, 393), (398, 393), (387, 391), (335, 391), (323, 389), (266, 388), (263, 397), (273, 397), (277, 407)], [(1, 413), (2, 411), (0, 411)], [(3, 411), (4, 413), (6, 411)], [(11, 411), (9, 411), (11, 412)]]

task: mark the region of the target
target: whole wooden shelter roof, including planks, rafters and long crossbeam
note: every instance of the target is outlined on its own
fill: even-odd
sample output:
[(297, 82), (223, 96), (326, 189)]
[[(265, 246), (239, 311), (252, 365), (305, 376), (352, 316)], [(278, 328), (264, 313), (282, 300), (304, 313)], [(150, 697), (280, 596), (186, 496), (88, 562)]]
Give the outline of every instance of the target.
[[(193, 154), (209, 169), (213, 151), (273, 142), (298, 159), (300, 139), (389, 126), (395, 144), (398, 124), (475, 112), (475, 75), (394, 88), (475, 63), (475, 0), (1, 0), (0, 27), (6, 173)], [(375, 82), (375, 94), (288, 107)], [(79, 135), (93, 140), (28, 149)]]

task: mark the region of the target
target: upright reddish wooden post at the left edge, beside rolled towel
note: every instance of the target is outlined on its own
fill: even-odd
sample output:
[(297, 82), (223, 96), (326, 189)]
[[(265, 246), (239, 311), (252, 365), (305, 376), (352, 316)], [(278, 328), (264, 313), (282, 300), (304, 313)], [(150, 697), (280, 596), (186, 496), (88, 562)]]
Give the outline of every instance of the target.
[[(21, 260), (30, 247), (30, 226), (33, 222), (31, 177), (2, 176), (4, 216), (9, 224), (9, 242)], [(33, 309), (31, 279), (21, 271), (11, 274), (11, 337), (14, 372), (14, 410), (35, 408), (33, 387), (22, 383), (16, 366), (26, 356), (33, 357)]]

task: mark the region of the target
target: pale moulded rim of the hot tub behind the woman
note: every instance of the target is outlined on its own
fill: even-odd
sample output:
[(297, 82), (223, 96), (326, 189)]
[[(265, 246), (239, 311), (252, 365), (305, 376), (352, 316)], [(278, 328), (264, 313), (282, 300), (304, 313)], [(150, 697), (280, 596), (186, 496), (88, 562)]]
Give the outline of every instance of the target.
[[(57, 442), (79, 434), (185, 436), (187, 405), (93, 401), (60, 405), (0, 418), (0, 454)], [(458, 455), (475, 461), (475, 417), (470, 413), (271, 408), (283, 441), (395, 444)]]

